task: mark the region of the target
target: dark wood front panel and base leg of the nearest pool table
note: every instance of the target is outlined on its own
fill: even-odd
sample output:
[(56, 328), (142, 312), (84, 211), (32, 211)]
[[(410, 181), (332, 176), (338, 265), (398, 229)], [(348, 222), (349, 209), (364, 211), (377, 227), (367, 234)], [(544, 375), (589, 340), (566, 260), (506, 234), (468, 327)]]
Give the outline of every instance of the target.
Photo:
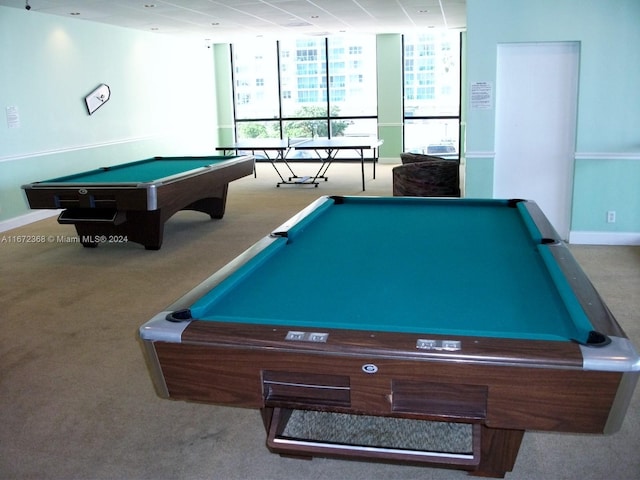
[[(384, 451), (373, 459), (455, 466), (474, 475), (503, 477), (513, 469), (525, 430), (601, 433), (621, 379), (621, 374), (575, 365), (538, 368), (527, 355), (514, 355), (510, 349), (505, 353), (501, 341), (487, 340), (474, 348), (487, 343), (501, 358), (513, 356), (520, 363), (482, 364), (460, 360), (459, 355), (447, 359), (407, 351), (403, 355), (397, 343), (380, 352), (347, 342), (332, 345), (333, 353), (326, 345), (296, 351), (267, 340), (240, 346), (230, 336), (216, 344), (203, 338), (190, 344), (189, 330), (181, 344), (153, 343), (169, 398), (260, 409), (269, 448), (285, 455), (372, 459), (366, 448), (274, 443), (291, 409), (463, 422), (475, 425), (480, 453), (472, 460)], [(376, 373), (365, 373), (362, 367), (369, 363), (377, 366)]]

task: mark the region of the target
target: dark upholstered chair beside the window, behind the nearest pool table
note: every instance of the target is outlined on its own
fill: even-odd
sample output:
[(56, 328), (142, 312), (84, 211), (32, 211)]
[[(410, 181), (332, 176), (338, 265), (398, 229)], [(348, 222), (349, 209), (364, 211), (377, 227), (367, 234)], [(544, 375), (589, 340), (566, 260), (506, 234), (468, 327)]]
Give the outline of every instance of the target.
[(403, 153), (394, 167), (393, 195), (397, 197), (459, 197), (460, 164), (430, 155)]

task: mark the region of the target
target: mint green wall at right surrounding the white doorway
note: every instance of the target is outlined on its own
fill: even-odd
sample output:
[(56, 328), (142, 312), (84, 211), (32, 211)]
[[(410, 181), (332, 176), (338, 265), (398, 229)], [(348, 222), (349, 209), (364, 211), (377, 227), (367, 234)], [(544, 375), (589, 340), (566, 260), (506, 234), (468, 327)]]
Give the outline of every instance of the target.
[[(467, 82), (494, 95), (499, 43), (581, 44), (572, 233), (640, 232), (639, 25), (638, 0), (467, 0)], [(491, 196), (495, 111), (467, 113), (466, 195)]]

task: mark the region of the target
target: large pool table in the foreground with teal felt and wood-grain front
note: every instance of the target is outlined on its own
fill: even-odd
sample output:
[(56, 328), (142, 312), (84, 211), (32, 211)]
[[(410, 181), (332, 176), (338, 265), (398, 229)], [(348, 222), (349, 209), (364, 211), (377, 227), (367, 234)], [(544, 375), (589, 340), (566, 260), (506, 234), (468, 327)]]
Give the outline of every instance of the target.
[(162, 397), (260, 409), (275, 453), (495, 477), (526, 430), (618, 430), (640, 373), (524, 200), (321, 197), (139, 336)]

